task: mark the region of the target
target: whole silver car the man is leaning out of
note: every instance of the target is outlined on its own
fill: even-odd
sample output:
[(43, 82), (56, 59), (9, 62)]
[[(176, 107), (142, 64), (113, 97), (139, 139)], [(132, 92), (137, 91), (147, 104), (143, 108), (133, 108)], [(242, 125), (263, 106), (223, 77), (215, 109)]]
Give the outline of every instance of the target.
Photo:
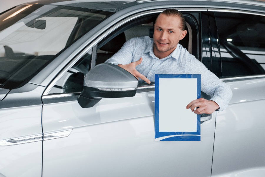
[[(185, 16), (181, 44), (233, 91), (201, 115), (201, 141), (155, 141), (155, 83), (101, 64), (152, 37), (168, 8)], [(251, 0), (41, 0), (1, 13), (0, 177), (264, 177), (264, 30), (265, 3)]]

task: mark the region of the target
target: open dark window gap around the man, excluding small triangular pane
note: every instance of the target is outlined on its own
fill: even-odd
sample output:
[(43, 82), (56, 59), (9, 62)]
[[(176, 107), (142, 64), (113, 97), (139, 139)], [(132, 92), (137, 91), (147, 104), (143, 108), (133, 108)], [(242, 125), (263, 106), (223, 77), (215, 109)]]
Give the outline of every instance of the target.
[[(196, 12), (193, 13), (196, 14)], [(125, 26), (122, 26), (121, 30), (117, 30), (118, 32), (116, 34), (110, 34), (109, 37), (100, 42), (97, 46), (96, 65), (104, 63), (107, 59), (112, 57), (112, 55), (120, 50), (127, 40), (133, 37), (149, 36), (153, 38), (153, 23), (157, 15), (158, 14), (152, 15), (148, 18), (141, 17), (140, 19), (134, 19), (133, 22), (129, 22), (125, 24)], [(179, 43), (198, 58), (198, 46), (196, 45), (198, 42), (198, 27), (194, 17), (189, 13), (184, 13), (184, 17), (186, 19), (187, 35), (183, 40), (180, 40)], [(194, 45), (196, 47), (193, 47)], [(139, 85), (146, 84), (147, 83), (139, 83)]]

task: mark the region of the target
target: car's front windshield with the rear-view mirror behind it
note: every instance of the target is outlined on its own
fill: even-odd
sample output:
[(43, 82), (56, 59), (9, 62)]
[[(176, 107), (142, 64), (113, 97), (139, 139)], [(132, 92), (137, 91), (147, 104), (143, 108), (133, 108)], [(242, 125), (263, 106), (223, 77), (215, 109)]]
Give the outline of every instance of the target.
[(0, 88), (28, 82), (55, 56), (113, 12), (24, 5), (0, 15)]

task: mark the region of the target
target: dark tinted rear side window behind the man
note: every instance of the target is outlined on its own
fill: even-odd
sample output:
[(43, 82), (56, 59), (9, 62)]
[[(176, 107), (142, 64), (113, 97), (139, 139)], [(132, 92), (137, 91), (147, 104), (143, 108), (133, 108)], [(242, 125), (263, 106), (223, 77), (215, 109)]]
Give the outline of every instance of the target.
[(215, 12), (222, 77), (264, 74), (265, 16)]

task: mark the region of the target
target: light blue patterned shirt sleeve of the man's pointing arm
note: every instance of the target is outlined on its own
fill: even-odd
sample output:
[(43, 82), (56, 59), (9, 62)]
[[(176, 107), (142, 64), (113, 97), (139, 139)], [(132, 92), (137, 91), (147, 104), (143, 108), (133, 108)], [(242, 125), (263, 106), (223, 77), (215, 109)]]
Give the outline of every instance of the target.
[(135, 48), (135, 39), (130, 39), (124, 43), (122, 48), (109, 58), (106, 63), (112, 63), (115, 65), (122, 64), (126, 65), (132, 62), (133, 50)]

